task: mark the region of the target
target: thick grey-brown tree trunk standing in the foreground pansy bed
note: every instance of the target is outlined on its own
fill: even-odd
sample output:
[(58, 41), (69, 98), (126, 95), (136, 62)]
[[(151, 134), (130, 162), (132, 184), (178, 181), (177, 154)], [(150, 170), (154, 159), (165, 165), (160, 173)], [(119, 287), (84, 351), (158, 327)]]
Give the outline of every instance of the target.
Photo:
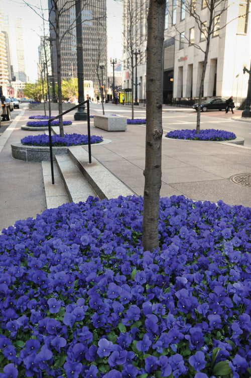
[(143, 247), (144, 250), (150, 251), (159, 246), (165, 9), (166, 0), (150, 0), (147, 39), (147, 125), (143, 211)]

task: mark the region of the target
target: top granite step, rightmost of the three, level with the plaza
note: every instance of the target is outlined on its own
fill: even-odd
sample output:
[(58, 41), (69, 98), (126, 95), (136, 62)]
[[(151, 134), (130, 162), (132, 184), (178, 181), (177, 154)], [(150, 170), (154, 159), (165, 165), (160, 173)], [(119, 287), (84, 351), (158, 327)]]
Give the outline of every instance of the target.
[(88, 152), (83, 146), (69, 147), (68, 154), (100, 199), (135, 194), (93, 156), (90, 164)]

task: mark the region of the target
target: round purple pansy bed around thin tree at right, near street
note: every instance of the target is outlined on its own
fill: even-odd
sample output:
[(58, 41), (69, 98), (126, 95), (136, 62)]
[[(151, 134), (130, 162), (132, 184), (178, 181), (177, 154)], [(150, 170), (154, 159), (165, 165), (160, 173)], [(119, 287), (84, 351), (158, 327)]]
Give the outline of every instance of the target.
[(196, 130), (174, 130), (166, 135), (167, 138), (189, 139), (192, 141), (229, 141), (236, 138), (234, 133), (224, 130), (205, 129), (196, 134)]

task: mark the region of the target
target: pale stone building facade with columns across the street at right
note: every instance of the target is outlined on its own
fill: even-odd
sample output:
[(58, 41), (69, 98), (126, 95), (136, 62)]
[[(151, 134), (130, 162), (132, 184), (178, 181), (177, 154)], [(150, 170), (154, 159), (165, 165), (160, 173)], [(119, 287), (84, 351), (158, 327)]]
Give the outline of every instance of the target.
[[(140, 0), (127, 0), (139, 9)], [(124, 1), (126, 3), (126, 0)], [(225, 6), (225, 10), (223, 7)], [(192, 12), (196, 12), (196, 23)], [(249, 68), (251, 57), (251, 25), (249, 0), (219, 1), (213, 12), (213, 32), (208, 52), (203, 96), (233, 96), (237, 104), (246, 98), (248, 75), (243, 74), (243, 64)], [(205, 0), (168, 0), (166, 7), (165, 41), (163, 53), (163, 102), (199, 96), (204, 51), (206, 47), (206, 27), (209, 9)], [(123, 19), (124, 29), (128, 18)], [(135, 24), (140, 28), (139, 18)], [(135, 26), (136, 28), (136, 26)], [(144, 26), (146, 28), (146, 20)], [(203, 31), (205, 33), (203, 33)], [(135, 48), (142, 49), (146, 42)], [(130, 81), (126, 66), (128, 54), (123, 56), (123, 86)], [(145, 77), (146, 63), (138, 66), (137, 80)], [(128, 78), (127, 78), (128, 76)], [(129, 81), (127, 81), (129, 80)], [(144, 99), (144, 80), (140, 100)]]

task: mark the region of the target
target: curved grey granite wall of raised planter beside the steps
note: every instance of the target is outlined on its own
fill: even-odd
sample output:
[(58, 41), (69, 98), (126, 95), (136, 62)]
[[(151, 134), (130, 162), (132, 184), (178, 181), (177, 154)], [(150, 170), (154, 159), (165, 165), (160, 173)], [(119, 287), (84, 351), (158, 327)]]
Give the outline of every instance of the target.
[[(68, 147), (53, 147), (53, 160), (55, 155), (68, 154)], [(25, 146), (22, 143), (12, 145), (12, 156), (24, 162), (43, 162), (50, 160), (50, 147)]]

